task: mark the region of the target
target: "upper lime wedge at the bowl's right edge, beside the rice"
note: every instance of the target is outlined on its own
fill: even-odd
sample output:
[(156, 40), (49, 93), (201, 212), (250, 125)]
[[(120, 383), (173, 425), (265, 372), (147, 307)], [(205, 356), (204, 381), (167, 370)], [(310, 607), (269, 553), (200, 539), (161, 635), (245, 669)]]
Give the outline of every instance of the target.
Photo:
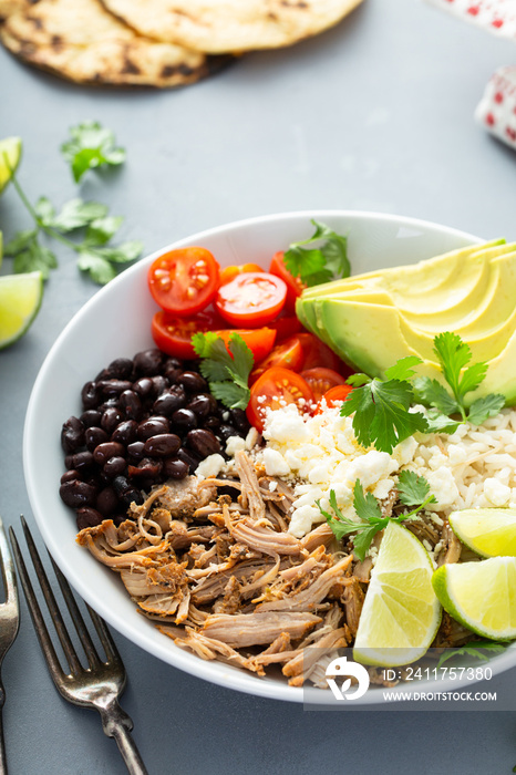
[(453, 531), (482, 557), (516, 557), (516, 508), (466, 508), (448, 517)]

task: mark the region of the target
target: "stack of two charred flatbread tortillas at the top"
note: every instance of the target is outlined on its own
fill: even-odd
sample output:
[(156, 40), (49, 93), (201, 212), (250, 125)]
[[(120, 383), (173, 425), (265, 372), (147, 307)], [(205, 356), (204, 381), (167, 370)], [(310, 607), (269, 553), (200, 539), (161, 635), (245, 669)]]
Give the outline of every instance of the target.
[(233, 54), (318, 34), (361, 1), (0, 0), (0, 39), (76, 83), (182, 86)]

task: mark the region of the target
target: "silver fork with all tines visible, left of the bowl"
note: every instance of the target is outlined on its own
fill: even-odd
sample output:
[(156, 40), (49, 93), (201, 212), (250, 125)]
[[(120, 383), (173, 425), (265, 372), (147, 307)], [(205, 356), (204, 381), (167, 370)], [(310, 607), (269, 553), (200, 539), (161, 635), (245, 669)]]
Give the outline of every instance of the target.
[(126, 681), (125, 668), (104, 620), (86, 604), (99, 639), (107, 657), (106, 661), (102, 661), (99, 657), (70, 585), (52, 557), (50, 557), (63, 598), (87, 659), (89, 666), (83, 668), (70, 639), (38, 549), (35, 548), (34, 540), (23, 517), (21, 517), (21, 524), (35, 575), (38, 576), (49, 613), (70, 668), (68, 674), (61, 668), (34, 595), (14, 530), (11, 527), (11, 544), (18, 572), (20, 574), (21, 585), (38, 634), (38, 640), (40, 641), (55, 688), (69, 702), (73, 702), (75, 705), (82, 705), (83, 707), (93, 707), (99, 711), (104, 733), (109, 737), (115, 738), (131, 775), (147, 775), (145, 765), (130, 734), (130, 731), (133, 728), (133, 722), (118, 705), (118, 696), (123, 692)]

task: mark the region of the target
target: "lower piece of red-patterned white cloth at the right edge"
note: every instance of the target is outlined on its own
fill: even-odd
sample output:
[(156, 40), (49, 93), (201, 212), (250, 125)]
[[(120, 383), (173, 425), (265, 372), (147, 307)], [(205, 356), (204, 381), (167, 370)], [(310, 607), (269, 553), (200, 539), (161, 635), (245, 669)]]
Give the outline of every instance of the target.
[(499, 68), (491, 78), (475, 111), (488, 132), (516, 147), (516, 66)]

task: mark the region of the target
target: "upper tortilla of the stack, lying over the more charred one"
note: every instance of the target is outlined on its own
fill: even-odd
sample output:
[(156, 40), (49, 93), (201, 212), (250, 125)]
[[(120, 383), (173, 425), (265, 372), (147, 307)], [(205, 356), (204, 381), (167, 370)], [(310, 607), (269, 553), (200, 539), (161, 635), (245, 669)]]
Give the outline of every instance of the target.
[(206, 53), (275, 49), (337, 24), (361, 0), (102, 0), (141, 34)]

